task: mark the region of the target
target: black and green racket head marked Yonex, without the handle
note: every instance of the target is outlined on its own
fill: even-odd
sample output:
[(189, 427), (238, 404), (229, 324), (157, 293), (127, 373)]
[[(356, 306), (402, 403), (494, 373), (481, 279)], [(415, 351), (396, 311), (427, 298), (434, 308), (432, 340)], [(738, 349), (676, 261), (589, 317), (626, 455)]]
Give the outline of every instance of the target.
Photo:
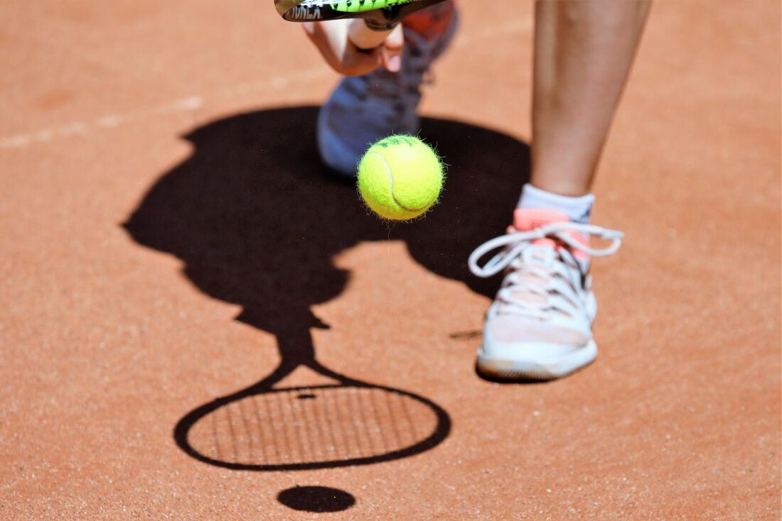
[(274, 0), (277, 12), (289, 22), (363, 18), (368, 27), (389, 30), (405, 16), (443, 0)]

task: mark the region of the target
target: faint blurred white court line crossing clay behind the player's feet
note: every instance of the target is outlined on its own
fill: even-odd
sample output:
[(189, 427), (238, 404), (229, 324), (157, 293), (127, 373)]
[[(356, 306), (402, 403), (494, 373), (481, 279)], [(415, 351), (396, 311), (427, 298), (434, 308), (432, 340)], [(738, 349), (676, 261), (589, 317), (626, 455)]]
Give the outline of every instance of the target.
[[(456, 48), (471, 46), (482, 40), (496, 38), (498, 34), (510, 35), (526, 33), (529, 30), (532, 30), (532, 28), (532, 20), (514, 20), (500, 26), (487, 27), (486, 30), (472, 33), (470, 37), (457, 38), (454, 43)], [(317, 68), (303, 70), (288, 77), (273, 76), (265, 80), (255, 80), (236, 84), (233, 87), (214, 93), (213, 98), (224, 98), (231, 95), (267, 90), (269, 87), (274, 88), (275, 90), (282, 90), (290, 84), (296, 84), (302, 80), (315, 80), (332, 75), (333, 73), (328, 70), (326, 66), (318, 66)], [(52, 139), (58, 137), (75, 136), (78, 134), (87, 134), (94, 130), (111, 129), (126, 123), (145, 120), (152, 116), (163, 116), (176, 112), (192, 112), (202, 108), (205, 104), (206, 98), (204, 96), (190, 95), (186, 98), (177, 99), (164, 105), (152, 107), (151, 109), (142, 109), (137, 112), (127, 112), (124, 114), (108, 114), (91, 121), (74, 121), (59, 127), (36, 130), (29, 134), (16, 134), (15, 136), (0, 137), (0, 148), (23, 148), (28, 145), (52, 141)]]

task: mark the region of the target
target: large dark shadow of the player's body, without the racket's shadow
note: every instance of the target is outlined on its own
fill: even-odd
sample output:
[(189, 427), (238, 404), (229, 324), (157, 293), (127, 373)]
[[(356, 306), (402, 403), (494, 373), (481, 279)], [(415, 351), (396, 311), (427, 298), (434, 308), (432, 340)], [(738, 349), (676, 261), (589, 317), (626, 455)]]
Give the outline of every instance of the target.
[[(387, 227), (368, 215), (352, 180), (321, 166), (316, 117), (313, 106), (268, 109), (195, 129), (185, 136), (192, 155), (160, 177), (125, 229), (181, 259), (204, 293), (241, 305), (237, 319), (276, 335), (289, 363), (312, 346), (282, 346), (324, 327), (311, 306), (346, 287), (350, 273), (332, 258), (361, 241), (404, 241), (432, 273), (493, 297), (498, 280), (472, 277), (467, 258), (510, 222), (529, 177), (529, 147), (494, 130), (425, 119), (421, 135), (450, 165), (446, 190), (425, 219)], [(444, 439), (450, 421), (437, 428)], [(187, 430), (180, 423), (176, 435), (185, 449)]]

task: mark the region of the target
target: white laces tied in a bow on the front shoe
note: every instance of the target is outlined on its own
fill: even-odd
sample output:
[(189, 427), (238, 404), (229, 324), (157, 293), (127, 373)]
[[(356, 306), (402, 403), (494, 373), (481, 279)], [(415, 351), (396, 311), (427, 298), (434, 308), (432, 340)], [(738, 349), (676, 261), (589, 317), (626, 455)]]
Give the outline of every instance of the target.
[[(572, 232), (611, 241), (605, 248), (590, 248), (572, 237)], [(468, 266), (477, 277), (491, 277), (508, 270), (497, 292), (497, 312), (513, 312), (545, 319), (548, 313), (560, 312), (573, 316), (582, 308), (579, 294), (588, 285), (587, 262), (578, 262), (573, 251), (593, 257), (614, 254), (622, 244), (624, 234), (616, 230), (580, 223), (550, 223), (528, 231), (515, 231), (481, 244), (469, 256)], [(549, 238), (565, 248), (538, 246), (533, 241)], [(483, 266), (485, 255), (500, 252)]]

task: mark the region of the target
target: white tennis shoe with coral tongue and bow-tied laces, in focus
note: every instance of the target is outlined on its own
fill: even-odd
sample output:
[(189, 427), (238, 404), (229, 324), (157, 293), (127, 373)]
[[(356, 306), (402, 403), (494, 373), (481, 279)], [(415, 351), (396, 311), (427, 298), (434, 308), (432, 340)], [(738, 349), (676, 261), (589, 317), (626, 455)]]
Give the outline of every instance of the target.
[[(594, 235), (612, 241), (589, 247)], [(552, 380), (595, 359), (592, 322), (597, 303), (590, 286), (590, 257), (612, 255), (622, 233), (569, 222), (553, 210), (517, 209), (508, 234), (476, 248), (470, 271), (490, 277), (504, 270), (486, 313), (477, 370), (508, 380)], [(485, 265), (484, 255), (500, 248)]]

